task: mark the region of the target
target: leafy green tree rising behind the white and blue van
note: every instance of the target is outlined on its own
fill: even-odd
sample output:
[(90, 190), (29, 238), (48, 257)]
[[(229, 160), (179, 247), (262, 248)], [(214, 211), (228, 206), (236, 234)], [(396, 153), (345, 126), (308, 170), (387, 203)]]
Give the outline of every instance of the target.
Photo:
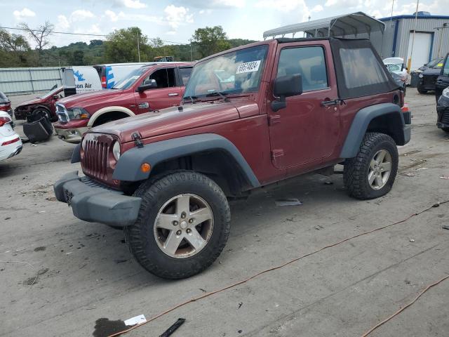
[(148, 37), (142, 35), (138, 27), (116, 29), (107, 36), (105, 57), (109, 62), (138, 62), (138, 39), (140, 55), (145, 55), (148, 48)]

